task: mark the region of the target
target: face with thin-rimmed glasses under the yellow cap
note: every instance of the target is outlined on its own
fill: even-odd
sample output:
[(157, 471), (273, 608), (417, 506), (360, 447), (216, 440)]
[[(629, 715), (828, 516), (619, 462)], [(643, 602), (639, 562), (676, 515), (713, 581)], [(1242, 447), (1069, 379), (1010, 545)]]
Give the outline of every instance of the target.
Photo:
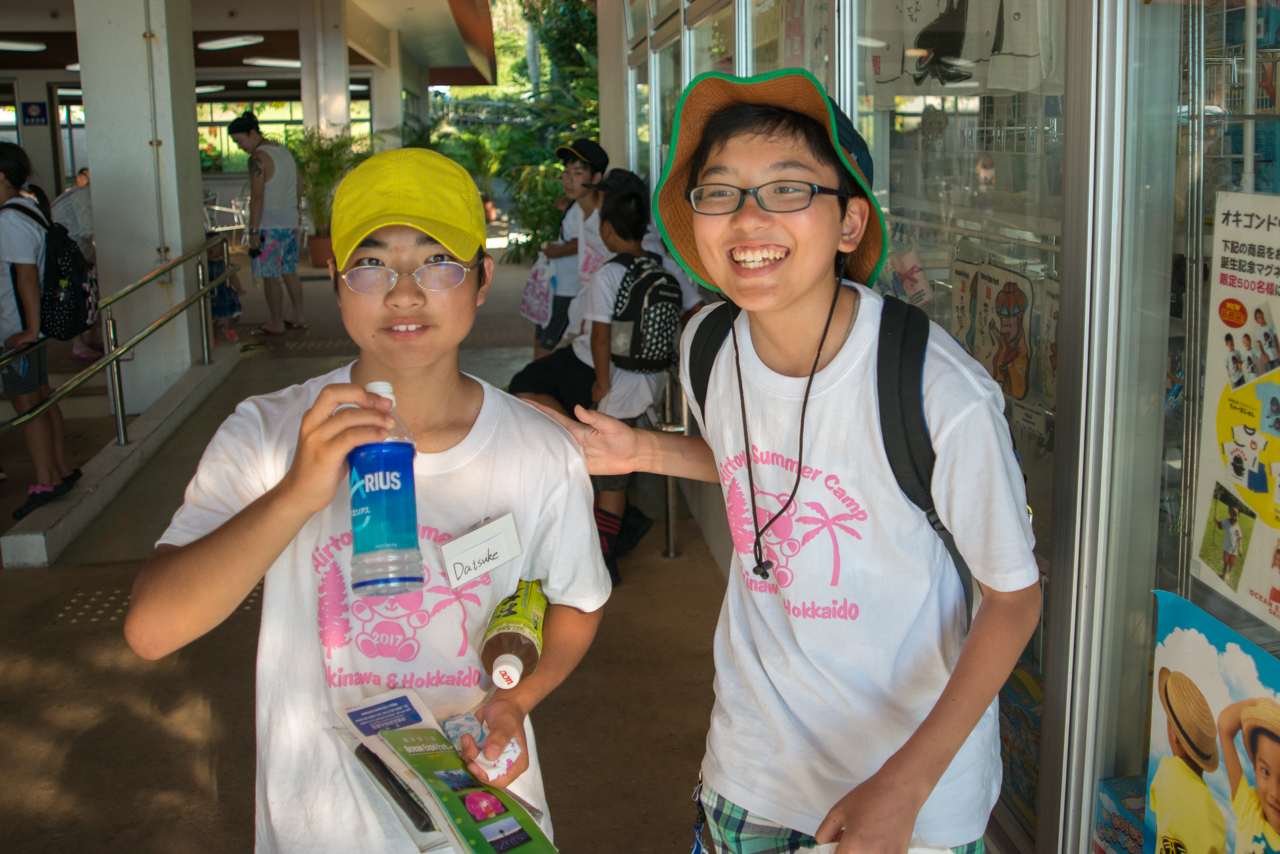
[[(433, 238), (408, 225), (387, 225), (366, 237), (351, 254), (343, 273), (357, 266), (384, 266), (399, 274), (385, 293), (356, 293), (338, 282), (338, 306), (347, 334), (360, 346), (360, 357), (392, 370), (408, 370), (457, 356), (458, 344), (475, 323), (493, 280), (493, 259), (484, 256), (480, 268), (449, 291), (424, 291), (413, 271), (424, 264), (461, 261)], [(333, 273), (330, 261), (330, 273)], [(483, 287), (477, 287), (484, 270)]]

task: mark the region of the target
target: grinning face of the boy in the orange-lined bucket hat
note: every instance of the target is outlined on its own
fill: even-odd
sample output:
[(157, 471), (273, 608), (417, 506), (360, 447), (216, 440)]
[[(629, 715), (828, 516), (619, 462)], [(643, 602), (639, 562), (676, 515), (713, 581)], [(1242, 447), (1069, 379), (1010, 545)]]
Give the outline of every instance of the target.
[[(698, 183), (759, 187), (803, 181), (836, 187), (836, 168), (823, 164), (791, 134), (731, 137), (714, 149)], [(829, 300), (836, 252), (851, 252), (867, 228), (865, 198), (849, 200), (841, 218), (835, 196), (817, 195), (805, 210), (774, 214), (748, 197), (724, 216), (694, 214), (694, 239), (712, 280), (753, 312), (786, 310), (808, 298)]]

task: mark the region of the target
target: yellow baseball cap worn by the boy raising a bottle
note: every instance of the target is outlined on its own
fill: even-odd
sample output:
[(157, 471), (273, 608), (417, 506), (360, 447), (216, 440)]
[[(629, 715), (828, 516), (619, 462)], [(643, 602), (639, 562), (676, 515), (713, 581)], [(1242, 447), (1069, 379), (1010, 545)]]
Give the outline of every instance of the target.
[(375, 154), (338, 184), (330, 224), (338, 269), (384, 225), (416, 228), (463, 261), (485, 245), (484, 206), (471, 175), (426, 149)]

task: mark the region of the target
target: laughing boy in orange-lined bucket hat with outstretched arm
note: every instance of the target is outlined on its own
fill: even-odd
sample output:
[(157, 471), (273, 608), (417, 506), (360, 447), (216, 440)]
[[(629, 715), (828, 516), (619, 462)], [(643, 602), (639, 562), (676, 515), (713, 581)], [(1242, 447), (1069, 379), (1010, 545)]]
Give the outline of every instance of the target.
[(867, 143), (806, 72), (703, 74), (685, 90), (655, 211), (672, 256), (741, 311), (714, 355), (701, 437), (581, 407), (593, 474), (719, 481), (735, 554), (716, 634), (701, 804), (718, 851), (974, 851), (1000, 793), (996, 694), (1039, 616), (1004, 396), (941, 328), (924, 412), (938, 516), (965, 595), (897, 485), (877, 415), (884, 262)]

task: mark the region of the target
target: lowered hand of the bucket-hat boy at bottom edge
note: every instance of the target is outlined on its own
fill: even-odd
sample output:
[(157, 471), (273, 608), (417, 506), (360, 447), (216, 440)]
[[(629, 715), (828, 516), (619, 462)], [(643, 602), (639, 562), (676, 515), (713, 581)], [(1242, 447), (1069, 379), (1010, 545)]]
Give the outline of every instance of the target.
[(817, 839), (840, 842), (836, 854), (906, 854), (923, 805), (914, 791), (876, 773), (836, 802)]

